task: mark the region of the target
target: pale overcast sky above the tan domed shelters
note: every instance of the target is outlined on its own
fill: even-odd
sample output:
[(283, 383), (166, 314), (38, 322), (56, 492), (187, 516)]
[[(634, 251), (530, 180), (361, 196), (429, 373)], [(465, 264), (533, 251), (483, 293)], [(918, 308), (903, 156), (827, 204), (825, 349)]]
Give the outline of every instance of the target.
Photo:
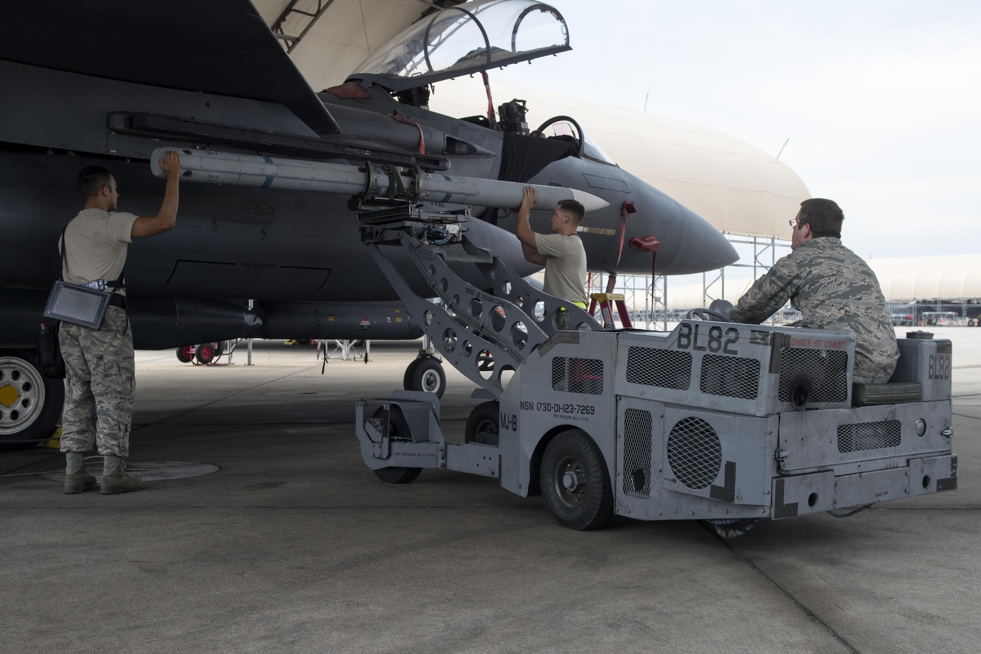
[(649, 88), (651, 113), (774, 155), (790, 137), (859, 255), (981, 252), (981, 2), (550, 4), (573, 51), (491, 80), (635, 108)]

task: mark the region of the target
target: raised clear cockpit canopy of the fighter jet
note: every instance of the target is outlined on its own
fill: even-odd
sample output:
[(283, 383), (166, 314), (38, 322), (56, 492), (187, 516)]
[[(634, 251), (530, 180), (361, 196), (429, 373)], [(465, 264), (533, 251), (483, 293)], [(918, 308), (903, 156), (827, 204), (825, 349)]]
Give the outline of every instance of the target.
[(554, 7), (533, 0), (476, 0), (409, 27), (350, 78), (399, 91), (571, 49), (569, 29)]

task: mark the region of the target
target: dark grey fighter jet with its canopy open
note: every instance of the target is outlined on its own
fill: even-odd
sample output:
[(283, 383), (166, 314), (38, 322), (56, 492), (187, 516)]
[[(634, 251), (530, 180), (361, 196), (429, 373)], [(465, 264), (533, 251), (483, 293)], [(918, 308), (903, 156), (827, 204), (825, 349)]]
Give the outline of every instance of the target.
[[(2, 4), (0, 441), (8, 444), (46, 437), (60, 414), (62, 382), (40, 375), (34, 349), (59, 275), (58, 235), (80, 208), (77, 173), (90, 164), (113, 172), (120, 210), (137, 215), (159, 206), (163, 184), (151, 167), (159, 148), (188, 160), (344, 165), (368, 179), (378, 169), (389, 188), (404, 179), (410, 191), (413, 180), (438, 175), (555, 187), (605, 205), (583, 223), (593, 270), (649, 272), (651, 255), (629, 246), (634, 237), (660, 241), (658, 273), (738, 258), (697, 214), (610, 161), (574, 117), (531, 129), (521, 102), (462, 120), (427, 108), (434, 82), (570, 49), (568, 27), (548, 5), (478, 0), (435, 12), (346, 82), (315, 93), (247, 0)], [(377, 200), (380, 186), (330, 192), (284, 188), (274, 175), (260, 184), (183, 176), (177, 228), (129, 246), (136, 348), (421, 335), (360, 242), (355, 210)], [(422, 203), (470, 211), (471, 242), (521, 275), (535, 272), (507, 231), (512, 207), (488, 197)], [(533, 228), (546, 232), (550, 213), (533, 212)]]

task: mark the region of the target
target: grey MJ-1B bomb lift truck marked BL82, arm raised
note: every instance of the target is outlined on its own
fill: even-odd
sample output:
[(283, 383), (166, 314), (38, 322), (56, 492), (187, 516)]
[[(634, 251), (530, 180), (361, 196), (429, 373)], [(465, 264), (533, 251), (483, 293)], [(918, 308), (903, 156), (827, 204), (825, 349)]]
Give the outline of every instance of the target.
[[(734, 324), (710, 309), (670, 332), (603, 330), (468, 242), (466, 212), (360, 220), (435, 349), (490, 400), (463, 444), (446, 442), (431, 393), (357, 402), (362, 458), (384, 481), (458, 470), (542, 494), (573, 529), (617, 514), (708, 520), (727, 537), (758, 518), (956, 488), (950, 341), (911, 333), (890, 383), (853, 384), (851, 332)], [(571, 331), (555, 329), (560, 310)]]

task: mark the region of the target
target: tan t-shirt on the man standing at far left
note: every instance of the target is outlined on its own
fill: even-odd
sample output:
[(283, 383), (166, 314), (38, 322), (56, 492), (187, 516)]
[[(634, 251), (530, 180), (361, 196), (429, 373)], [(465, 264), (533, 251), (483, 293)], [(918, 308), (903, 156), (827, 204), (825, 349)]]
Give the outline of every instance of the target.
[[(65, 230), (62, 275), (69, 284), (119, 279), (126, 265), (136, 216), (122, 211), (82, 209)], [(61, 235), (58, 239), (61, 250)]]

